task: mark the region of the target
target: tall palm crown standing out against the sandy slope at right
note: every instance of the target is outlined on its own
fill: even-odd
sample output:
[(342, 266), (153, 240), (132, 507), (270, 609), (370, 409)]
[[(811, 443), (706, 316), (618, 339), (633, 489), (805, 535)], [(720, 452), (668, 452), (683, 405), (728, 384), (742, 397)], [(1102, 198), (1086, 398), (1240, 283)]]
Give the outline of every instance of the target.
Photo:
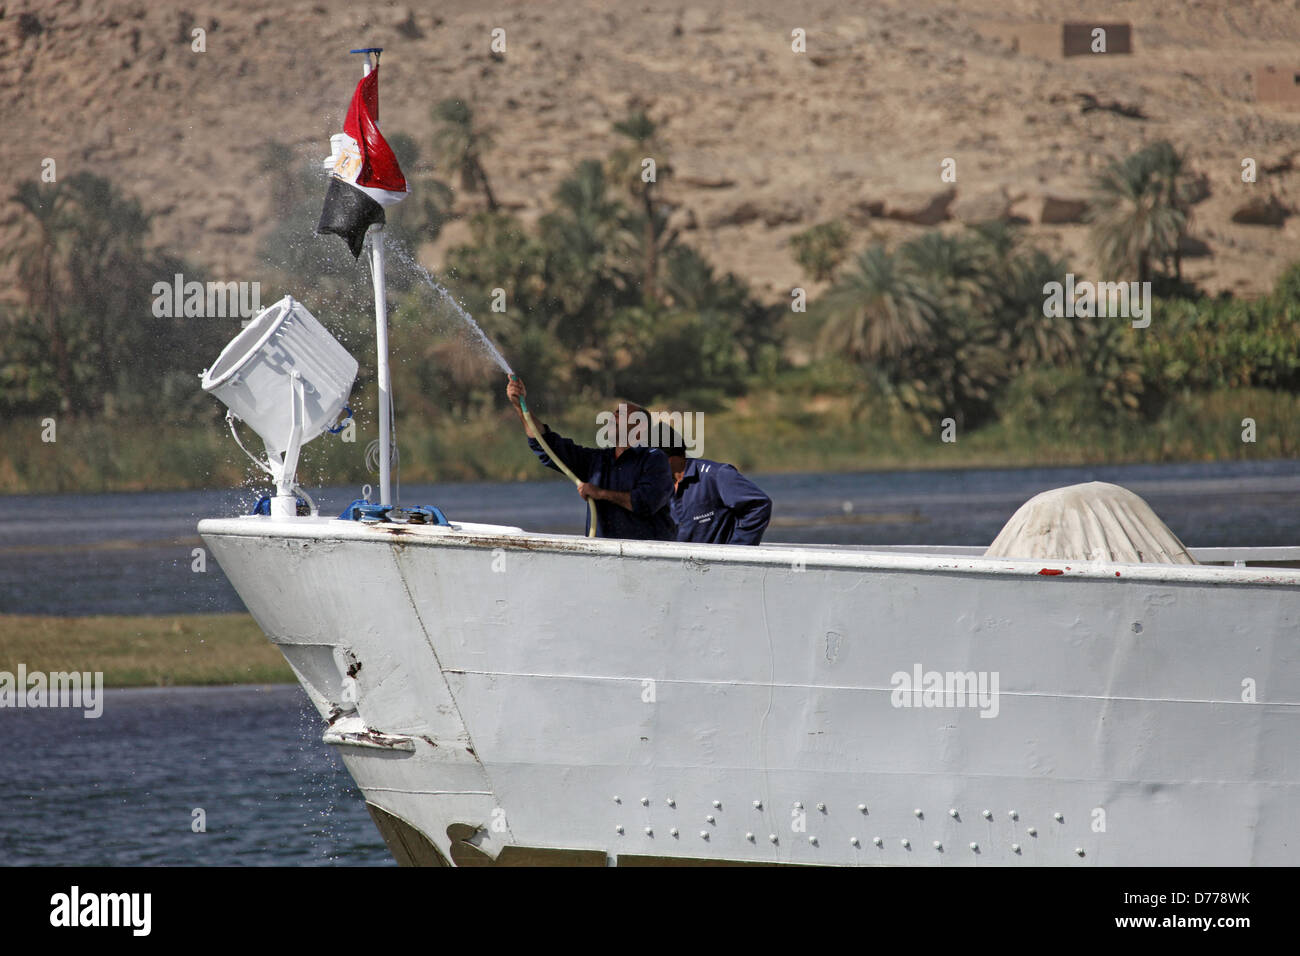
[(1167, 142), (1153, 143), (1110, 163), (1092, 186), (1092, 239), (1109, 274), (1150, 280), (1152, 259), (1178, 261), (1187, 232), (1187, 170)]

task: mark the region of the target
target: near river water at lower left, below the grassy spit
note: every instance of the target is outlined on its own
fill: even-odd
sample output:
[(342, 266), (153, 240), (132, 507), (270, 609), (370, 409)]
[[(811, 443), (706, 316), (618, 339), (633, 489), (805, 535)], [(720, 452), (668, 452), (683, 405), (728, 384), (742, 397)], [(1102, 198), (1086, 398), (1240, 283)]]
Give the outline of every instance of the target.
[(0, 711), (0, 866), (393, 864), (298, 685), (104, 693)]

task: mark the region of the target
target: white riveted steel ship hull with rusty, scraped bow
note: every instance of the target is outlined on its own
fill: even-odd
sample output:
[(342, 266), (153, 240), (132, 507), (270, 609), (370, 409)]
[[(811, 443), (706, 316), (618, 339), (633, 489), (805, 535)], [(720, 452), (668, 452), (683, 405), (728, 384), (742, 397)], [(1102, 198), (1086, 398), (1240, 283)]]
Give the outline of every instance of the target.
[(1300, 571), (199, 531), (403, 862), (1300, 862)]

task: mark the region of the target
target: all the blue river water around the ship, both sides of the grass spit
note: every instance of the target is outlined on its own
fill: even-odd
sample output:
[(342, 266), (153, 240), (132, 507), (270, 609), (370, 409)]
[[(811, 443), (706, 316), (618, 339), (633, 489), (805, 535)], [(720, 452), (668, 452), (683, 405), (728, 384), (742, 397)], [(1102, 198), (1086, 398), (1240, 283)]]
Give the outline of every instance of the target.
[[(1295, 462), (755, 475), (768, 541), (987, 545), (1026, 498), (1078, 481), (1141, 494), (1190, 546), (1300, 544)], [(337, 514), (358, 489), (317, 494)], [(580, 532), (560, 481), (421, 485), (452, 520)], [(243, 610), (195, 523), (246, 492), (0, 497), (0, 614)], [(0, 865), (391, 862), (296, 687), (112, 691), (99, 719), (0, 710)], [(207, 832), (194, 832), (203, 809)]]

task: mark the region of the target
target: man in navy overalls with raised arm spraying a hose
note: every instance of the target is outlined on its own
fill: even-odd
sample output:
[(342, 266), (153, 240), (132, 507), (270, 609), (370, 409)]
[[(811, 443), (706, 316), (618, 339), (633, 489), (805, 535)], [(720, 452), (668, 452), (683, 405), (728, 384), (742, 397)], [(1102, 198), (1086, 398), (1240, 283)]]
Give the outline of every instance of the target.
[[(524, 431), (528, 433), (528, 447), (533, 450), (542, 464), (554, 468), (555, 463), (542, 451), (537, 444), (524, 412), (520, 408), (520, 397), (528, 397), (524, 382), (512, 378), (506, 386), (506, 395), (510, 398), (519, 418), (524, 421)], [(645, 410), (634, 405), (623, 403), (615, 411), (616, 416), (625, 416), (633, 411), (645, 414)], [(628, 434), (625, 421), (620, 421), (618, 434)], [(551, 446), (564, 464), (568, 466), (578, 480), (577, 493), (584, 499), (595, 501), (597, 531), (599, 537), (630, 537), (650, 541), (676, 540), (676, 528), (668, 510), (668, 499), (672, 497), (672, 470), (668, 467), (668, 458), (659, 449), (653, 447), (625, 447), (589, 449), (577, 442), (552, 432), (545, 423), (541, 424), (546, 444)], [(590, 514), (588, 522), (590, 523)]]

